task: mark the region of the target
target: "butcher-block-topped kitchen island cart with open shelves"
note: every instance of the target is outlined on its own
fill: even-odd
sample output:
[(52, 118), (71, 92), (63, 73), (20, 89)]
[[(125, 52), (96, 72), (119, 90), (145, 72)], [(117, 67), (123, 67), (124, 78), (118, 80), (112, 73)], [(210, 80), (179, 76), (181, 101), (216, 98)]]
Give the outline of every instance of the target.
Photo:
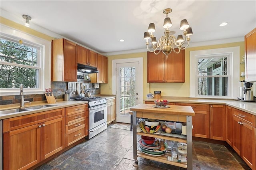
[[(133, 157), (135, 160), (134, 166), (138, 165), (137, 157), (142, 157), (166, 164), (180, 166), (192, 170), (192, 116), (195, 115), (190, 106), (176, 106), (172, 105), (169, 108), (155, 108), (152, 104), (139, 104), (130, 110), (132, 111), (132, 128), (133, 128)], [(137, 119), (158, 119), (161, 121), (176, 121), (186, 123), (186, 135), (162, 133), (144, 133), (136, 132)], [(162, 156), (151, 156), (144, 154), (137, 149), (137, 134), (143, 136), (156, 137), (164, 140), (173, 140), (177, 142), (184, 142), (187, 144), (187, 162), (170, 161), (171, 154), (166, 153)]]

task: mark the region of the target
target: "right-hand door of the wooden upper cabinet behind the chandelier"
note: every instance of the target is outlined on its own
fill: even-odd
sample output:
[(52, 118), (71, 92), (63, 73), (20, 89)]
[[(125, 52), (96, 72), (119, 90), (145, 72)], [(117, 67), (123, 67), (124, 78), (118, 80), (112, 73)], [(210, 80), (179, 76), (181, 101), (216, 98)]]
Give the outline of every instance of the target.
[(185, 51), (174, 52), (165, 59), (165, 82), (184, 83), (185, 82)]

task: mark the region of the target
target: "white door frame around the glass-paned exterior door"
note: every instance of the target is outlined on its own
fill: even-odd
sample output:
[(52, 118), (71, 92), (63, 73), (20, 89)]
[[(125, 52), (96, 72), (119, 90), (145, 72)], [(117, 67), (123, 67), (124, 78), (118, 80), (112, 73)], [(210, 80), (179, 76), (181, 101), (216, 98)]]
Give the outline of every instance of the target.
[[(139, 103), (143, 103), (143, 58), (126, 58), (112, 60), (112, 95), (116, 95), (116, 64), (117, 63), (139, 63)], [(117, 100), (116, 100), (117, 101)], [(117, 110), (116, 110), (117, 111)]]

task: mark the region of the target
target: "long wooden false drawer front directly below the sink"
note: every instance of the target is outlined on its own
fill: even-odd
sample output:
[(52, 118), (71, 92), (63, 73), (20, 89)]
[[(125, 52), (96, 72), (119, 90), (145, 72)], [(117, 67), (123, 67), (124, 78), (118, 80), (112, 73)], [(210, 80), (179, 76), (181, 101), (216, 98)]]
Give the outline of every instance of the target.
[(64, 108), (4, 119), (3, 132), (28, 127), (30, 125), (35, 125), (37, 123), (50, 121), (60, 117), (64, 117)]

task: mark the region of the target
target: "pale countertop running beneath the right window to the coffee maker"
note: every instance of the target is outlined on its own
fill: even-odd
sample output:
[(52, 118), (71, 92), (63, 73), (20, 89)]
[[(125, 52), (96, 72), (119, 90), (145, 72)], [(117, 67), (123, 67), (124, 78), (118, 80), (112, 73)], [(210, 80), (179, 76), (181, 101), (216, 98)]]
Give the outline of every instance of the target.
[[(241, 111), (245, 111), (256, 116), (256, 102), (236, 101), (236, 100), (224, 100), (224, 99), (198, 99), (189, 97), (165, 97), (169, 102), (175, 103), (204, 103), (204, 104), (216, 104), (216, 105), (228, 105)], [(143, 99), (144, 101), (155, 101), (156, 99)]]

